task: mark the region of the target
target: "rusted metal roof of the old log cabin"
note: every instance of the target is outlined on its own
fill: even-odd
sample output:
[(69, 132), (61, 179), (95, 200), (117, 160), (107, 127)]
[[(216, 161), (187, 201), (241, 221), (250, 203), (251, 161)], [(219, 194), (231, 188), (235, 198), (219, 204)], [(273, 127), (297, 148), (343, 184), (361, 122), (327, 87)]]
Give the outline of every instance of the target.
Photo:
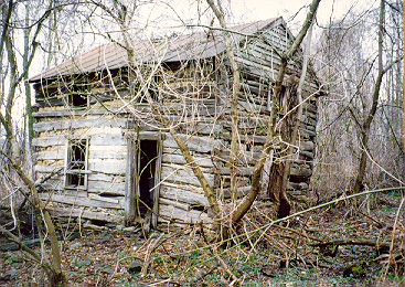
[[(276, 22), (284, 22), (283, 18), (262, 20), (253, 23), (234, 26), (230, 30), (235, 43), (246, 35), (264, 31)], [(148, 62), (177, 62), (185, 60), (206, 59), (225, 51), (222, 31), (196, 32), (167, 40), (134, 41), (135, 60), (139, 64)], [(44, 78), (54, 78), (66, 75), (77, 75), (103, 70), (115, 70), (128, 66), (128, 53), (117, 43), (108, 43), (94, 47), (72, 57), (62, 64), (51, 67), (29, 82), (39, 82)]]

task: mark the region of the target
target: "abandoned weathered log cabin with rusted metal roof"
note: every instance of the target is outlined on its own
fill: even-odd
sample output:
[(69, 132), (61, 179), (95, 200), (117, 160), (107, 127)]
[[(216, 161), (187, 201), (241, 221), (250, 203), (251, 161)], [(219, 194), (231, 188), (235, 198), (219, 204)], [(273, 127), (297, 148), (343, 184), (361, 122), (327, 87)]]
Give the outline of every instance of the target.
[[(265, 142), (280, 54), (294, 35), (283, 18), (231, 31), (242, 75), (236, 195), (241, 198), (249, 190), (251, 172)], [(209, 222), (209, 202), (170, 128), (186, 142), (217, 199), (230, 201), (233, 78), (222, 33), (194, 31), (137, 40), (130, 46), (107, 43), (30, 78), (35, 91), (34, 173), (45, 179), (41, 198), (55, 215), (152, 226)], [(301, 66), (300, 51), (287, 66), (280, 118), (288, 115)], [(305, 200), (310, 190), (320, 87), (310, 65), (289, 174), (292, 200)], [(263, 170), (263, 200), (271, 162), (288, 139), (281, 130)]]

